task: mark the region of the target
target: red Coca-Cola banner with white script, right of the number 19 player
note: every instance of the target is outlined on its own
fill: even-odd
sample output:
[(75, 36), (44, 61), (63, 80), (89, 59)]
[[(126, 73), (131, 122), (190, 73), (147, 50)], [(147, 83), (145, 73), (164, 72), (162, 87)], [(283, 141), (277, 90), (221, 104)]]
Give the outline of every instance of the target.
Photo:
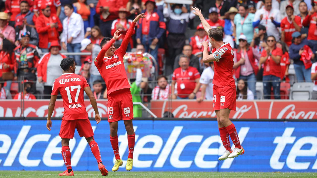
[[(175, 118), (216, 118), (212, 101), (197, 103), (191, 100), (152, 101), (151, 111), (163, 117), (165, 111)], [(317, 119), (317, 101), (259, 100), (237, 101), (235, 119)]]

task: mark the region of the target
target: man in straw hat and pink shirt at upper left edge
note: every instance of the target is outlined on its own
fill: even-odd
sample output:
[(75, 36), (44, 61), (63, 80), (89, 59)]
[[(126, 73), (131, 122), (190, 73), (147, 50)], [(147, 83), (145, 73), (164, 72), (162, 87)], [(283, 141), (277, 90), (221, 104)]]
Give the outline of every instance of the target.
[(8, 14), (0, 12), (0, 43), (2, 43), (3, 39), (8, 39), (10, 42), (14, 43), (16, 39), (15, 29), (7, 24)]

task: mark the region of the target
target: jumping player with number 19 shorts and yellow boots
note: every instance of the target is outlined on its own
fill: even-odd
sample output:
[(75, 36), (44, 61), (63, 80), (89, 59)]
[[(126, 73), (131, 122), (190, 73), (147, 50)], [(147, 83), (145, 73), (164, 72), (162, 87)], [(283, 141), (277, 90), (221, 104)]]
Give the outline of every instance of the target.
[(102, 78), (106, 82), (107, 97), (108, 97), (108, 122), (110, 124), (110, 142), (113, 148), (116, 161), (112, 171), (117, 171), (119, 166), (123, 164), (119, 154), (119, 140), (118, 140), (118, 121), (123, 119), (128, 134), (129, 155), (126, 162), (126, 170), (131, 170), (133, 167), (133, 150), (135, 133), (133, 130), (133, 102), (129, 85), (126, 76), (126, 70), (123, 64), (123, 56), (126, 54), (126, 48), (129, 44), (135, 23), (140, 18), (145, 18), (143, 14), (138, 15), (133, 20), (126, 36), (123, 39), (120, 48), (115, 50), (114, 41), (119, 39), (121, 34), (117, 30), (113, 34), (113, 38), (104, 37), (100, 43), (101, 51), (95, 59), (95, 66)]

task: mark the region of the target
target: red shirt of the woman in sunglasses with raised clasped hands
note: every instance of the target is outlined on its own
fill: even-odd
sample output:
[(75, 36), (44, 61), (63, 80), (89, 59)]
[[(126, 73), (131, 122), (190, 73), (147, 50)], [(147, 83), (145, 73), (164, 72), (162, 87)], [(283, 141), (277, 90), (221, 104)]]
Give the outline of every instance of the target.
[[(268, 54), (266, 50), (264, 49), (262, 51), (261, 57), (266, 57)], [(274, 48), (272, 51), (272, 55), (274, 56), (282, 56), (283, 52), (281, 48)], [(264, 71), (263, 76), (266, 75), (274, 75), (276, 77), (281, 76), (281, 65), (280, 63), (276, 64), (276, 62), (271, 58), (271, 56), (268, 56), (268, 59), (264, 63)]]

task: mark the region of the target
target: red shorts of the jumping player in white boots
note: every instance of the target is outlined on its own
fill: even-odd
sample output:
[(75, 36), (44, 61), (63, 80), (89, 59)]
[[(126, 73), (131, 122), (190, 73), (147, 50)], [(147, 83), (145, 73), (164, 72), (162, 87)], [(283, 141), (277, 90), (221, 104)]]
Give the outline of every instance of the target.
[(213, 108), (215, 110), (230, 109), (236, 111), (236, 90), (230, 86), (218, 87), (214, 85), (213, 89)]

